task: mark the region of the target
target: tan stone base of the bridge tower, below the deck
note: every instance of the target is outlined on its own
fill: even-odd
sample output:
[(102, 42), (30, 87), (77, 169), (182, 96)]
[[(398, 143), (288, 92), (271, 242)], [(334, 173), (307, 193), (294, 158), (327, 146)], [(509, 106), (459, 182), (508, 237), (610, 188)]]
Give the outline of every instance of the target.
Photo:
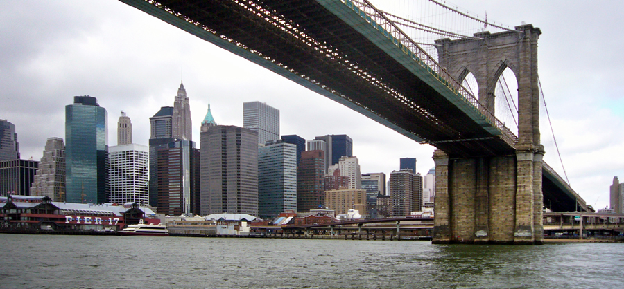
[(541, 153), (433, 158), (433, 243), (541, 243)]

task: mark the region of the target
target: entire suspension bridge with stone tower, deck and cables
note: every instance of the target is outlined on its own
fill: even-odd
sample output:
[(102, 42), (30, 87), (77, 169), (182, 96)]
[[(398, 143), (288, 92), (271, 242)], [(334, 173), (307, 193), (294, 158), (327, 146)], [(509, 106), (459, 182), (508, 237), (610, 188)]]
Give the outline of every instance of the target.
[[(541, 243), (544, 206), (587, 211), (542, 160), (532, 24), (457, 35), (367, 0), (121, 1), (436, 147), (434, 243)], [(441, 35), (437, 59), (406, 26)], [(517, 80), (513, 128), (496, 117), (507, 69)]]

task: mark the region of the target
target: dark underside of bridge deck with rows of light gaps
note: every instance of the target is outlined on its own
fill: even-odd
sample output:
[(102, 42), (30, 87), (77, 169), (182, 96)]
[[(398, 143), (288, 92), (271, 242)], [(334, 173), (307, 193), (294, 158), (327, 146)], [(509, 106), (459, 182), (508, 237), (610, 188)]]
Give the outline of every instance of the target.
[(234, 40), (239, 47), (284, 68), (278, 73), (290, 74), (289, 78), (295, 74), (321, 86), (348, 100), (341, 103), (365, 109), (370, 112), (365, 113), (367, 116), (385, 120), (386, 125), (390, 122), (399, 128), (393, 129), (433, 143), (450, 156), (513, 153), (499, 136), (492, 136), (315, 1), (157, 2), (162, 4), (160, 9), (170, 8), (213, 30), (206, 33)]

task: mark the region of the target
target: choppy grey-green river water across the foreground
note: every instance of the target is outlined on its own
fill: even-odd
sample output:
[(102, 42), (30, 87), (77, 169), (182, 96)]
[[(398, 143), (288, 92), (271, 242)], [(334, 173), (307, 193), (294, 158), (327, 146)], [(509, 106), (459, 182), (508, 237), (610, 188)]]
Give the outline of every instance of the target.
[(0, 288), (624, 288), (624, 243), (0, 234)]

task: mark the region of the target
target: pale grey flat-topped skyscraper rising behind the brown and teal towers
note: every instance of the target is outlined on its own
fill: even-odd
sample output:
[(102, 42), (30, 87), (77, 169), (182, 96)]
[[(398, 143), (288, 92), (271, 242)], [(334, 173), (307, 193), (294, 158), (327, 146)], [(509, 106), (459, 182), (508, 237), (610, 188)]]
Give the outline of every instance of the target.
[(279, 140), (279, 109), (263, 102), (243, 103), (243, 127), (258, 133), (258, 143)]

